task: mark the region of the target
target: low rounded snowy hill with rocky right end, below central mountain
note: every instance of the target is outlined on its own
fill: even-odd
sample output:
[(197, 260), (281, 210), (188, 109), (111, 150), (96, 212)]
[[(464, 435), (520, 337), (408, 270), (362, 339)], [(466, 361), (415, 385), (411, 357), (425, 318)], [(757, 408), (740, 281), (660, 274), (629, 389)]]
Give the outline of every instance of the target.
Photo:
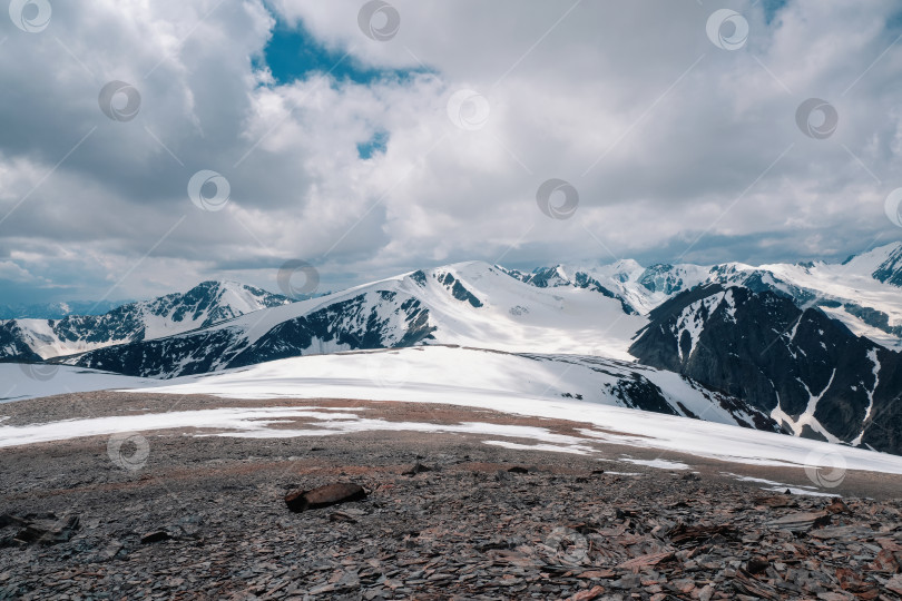
[(345, 387), (331, 394), (346, 398), (443, 397), (452, 403), (467, 397), (513, 403), (543, 398), (680, 417), (704, 415), (705, 421), (718, 424), (778, 431), (777, 424), (759, 411), (688, 378), (645, 365), (585, 355), (502, 353), (458, 346), (293, 357), (246, 370), (178, 377), (160, 382), (155, 388), (176, 393), (225, 383), (222, 390), (228, 394), (254, 397), (266, 390), (261, 387), (264, 382), (283, 391), (278, 394), (296, 390), (306, 395), (306, 388), (324, 386)]

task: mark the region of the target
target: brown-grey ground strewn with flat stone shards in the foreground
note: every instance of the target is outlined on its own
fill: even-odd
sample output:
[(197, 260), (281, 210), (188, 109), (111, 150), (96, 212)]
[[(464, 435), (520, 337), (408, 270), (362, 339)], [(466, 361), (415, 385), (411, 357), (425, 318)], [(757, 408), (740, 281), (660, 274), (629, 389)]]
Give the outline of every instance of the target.
[[(213, 402), (175, 401), (179, 411)], [(173, 403), (94, 393), (0, 405), (0, 415), (21, 425)], [(349, 402), (315, 402), (329, 403)], [(360, 405), (396, 421), (530, 423)], [(645, 467), (625, 455), (660, 453), (635, 447), (599, 456), (477, 434), (196, 433), (147, 433), (135, 465), (111, 460), (109, 436), (0, 450), (0, 599), (902, 599), (898, 476), (850, 473), (835, 501), (726, 475), (801, 484), (801, 470), (673, 454), (690, 469)], [(365, 497), (300, 513), (285, 503), (336, 482)]]

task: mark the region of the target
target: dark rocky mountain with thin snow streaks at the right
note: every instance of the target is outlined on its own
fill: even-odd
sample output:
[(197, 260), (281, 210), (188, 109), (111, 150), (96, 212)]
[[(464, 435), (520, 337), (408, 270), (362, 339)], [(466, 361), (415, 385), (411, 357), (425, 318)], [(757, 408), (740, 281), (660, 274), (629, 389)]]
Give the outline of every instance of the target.
[(795, 435), (902, 451), (902, 354), (817, 307), (710, 284), (651, 312), (630, 347), (766, 412)]

